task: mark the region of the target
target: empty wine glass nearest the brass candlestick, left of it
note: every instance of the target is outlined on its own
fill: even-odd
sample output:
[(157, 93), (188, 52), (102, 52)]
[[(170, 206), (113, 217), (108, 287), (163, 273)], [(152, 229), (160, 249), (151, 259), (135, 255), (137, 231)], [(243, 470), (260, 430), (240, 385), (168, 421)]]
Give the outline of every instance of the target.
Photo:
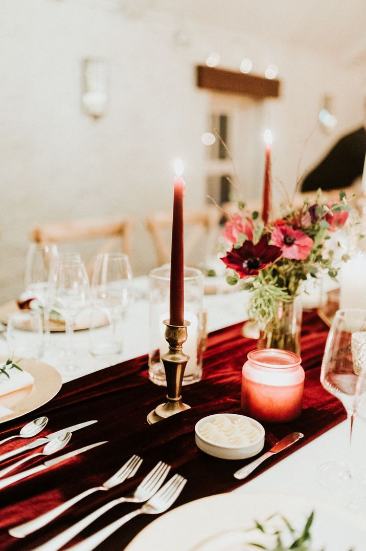
[(93, 305), (108, 318), (109, 341), (93, 339), (91, 353), (120, 354), (122, 352), (122, 320), (132, 301), (132, 271), (128, 256), (122, 253), (97, 255), (91, 283)]

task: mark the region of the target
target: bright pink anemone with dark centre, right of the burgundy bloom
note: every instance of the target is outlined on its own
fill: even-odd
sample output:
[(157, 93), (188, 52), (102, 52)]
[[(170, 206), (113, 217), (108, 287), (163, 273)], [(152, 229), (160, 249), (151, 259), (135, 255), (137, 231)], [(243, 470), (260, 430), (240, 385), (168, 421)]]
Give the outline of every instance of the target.
[(275, 226), (271, 240), (274, 245), (281, 247), (283, 258), (291, 260), (305, 260), (314, 245), (312, 238), (303, 231), (286, 225)]

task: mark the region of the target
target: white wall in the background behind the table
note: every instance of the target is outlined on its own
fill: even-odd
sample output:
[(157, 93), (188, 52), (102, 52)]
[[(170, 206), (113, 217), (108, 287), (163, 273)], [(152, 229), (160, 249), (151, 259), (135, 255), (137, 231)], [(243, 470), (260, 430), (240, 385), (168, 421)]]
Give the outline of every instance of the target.
[[(196, 89), (194, 66), (211, 50), (220, 51), (223, 67), (236, 68), (248, 55), (258, 71), (269, 62), (280, 68), (281, 98), (265, 102), (263, 124), (275, 134), (274, 175), (290, 190), (324, 93), (335, 98), (337, 133), (362, 121), (362, 75), (336, 58), (254, 34), (185, 25), (190, 40), (181, 47), (173, 40), (179, 21), (154, 10), (128, 19), (113, 2), (1, 2), (1, 302), (22, 290), (28, 231), (36, 220), (134, 215), (134, 272), (154, 266), (141, 220), (171, 208), (175, 158), (185, 161), (186, 208), (205, 202), (200, 136), (210, 101)], [(110, 104), (97, 121), (80, 107), (81, 60), (92, 56), (104, 57), (110, 68)], [(304, 166), (335, 138), (316, 129)]]

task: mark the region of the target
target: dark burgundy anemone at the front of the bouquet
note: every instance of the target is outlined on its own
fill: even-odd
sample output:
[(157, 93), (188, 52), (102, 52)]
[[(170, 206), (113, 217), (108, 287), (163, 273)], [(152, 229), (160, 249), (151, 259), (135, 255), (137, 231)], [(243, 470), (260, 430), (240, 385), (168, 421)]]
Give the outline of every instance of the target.
[(241, 279), (258, 276), (260, 270), (276, 262), (282, 255), (280, 247), (269, 245), (268, 241), (269, 235), (261, 237), (256, 245), (253, 241), (244, 241), (239, 249), (233, 247), (221, 260), (227, 268), (235, 270)]

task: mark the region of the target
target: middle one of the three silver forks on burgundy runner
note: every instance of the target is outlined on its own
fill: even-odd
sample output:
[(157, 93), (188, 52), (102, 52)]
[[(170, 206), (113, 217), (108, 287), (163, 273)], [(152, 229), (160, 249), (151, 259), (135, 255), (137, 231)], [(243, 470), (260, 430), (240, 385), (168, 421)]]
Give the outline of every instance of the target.
[(112, 507), (116, 505), (126, 502), (143, 503), (144, 501), (147, 501), (155, 494), (157, 490), (159, 490), (169, 471), (170, 465), (159, 461), (159, 463), (157, 463), (154, 469), (152, 469), (152, 471), (150, 471), (150, 473), (146, 475), (144, 480), (138, 485), (135, 490), (123, 496), (122, 498), (113, 499), (105, 505), (102, 505), (101, 507), (99, 507), (99, 509), (96, 509), (96, 511), (91, 512), (90, 515), (81, 518), (79, 522), (70, 526), (63, 532), (57, 534), (57, 536), (55, 536), (54, 538), (48, 540), (48, 542), (46, 542), (44, 545), (41, 545), (41, 547), (37, 547), (37, 550), (41, 551), (42, 549), (45, 551), (56, 551), (56, 549), (60, 549), (65, 543), (69, 542), (70, 539), (77, 536), (77, 534), (79, 534), (81, 530), (84, 530), (84, 528), (95, 521), (96, 518), (99, 518), (101, 515), (103, 515), (103, 513), (109, 511), (110, 509), (112, 509)]

